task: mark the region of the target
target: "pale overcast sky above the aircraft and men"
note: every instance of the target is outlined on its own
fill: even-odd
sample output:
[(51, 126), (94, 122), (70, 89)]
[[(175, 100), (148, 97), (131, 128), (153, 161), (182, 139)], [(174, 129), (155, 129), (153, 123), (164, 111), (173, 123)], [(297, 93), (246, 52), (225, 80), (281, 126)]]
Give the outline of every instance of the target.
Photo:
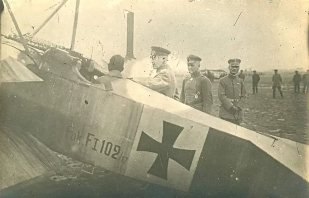
[[(31, 33), (59, 0), (10, 2), (21, 31)], [(37, 36), (70, 47), (75, 1), (65, 5)], [(239, 58), (243, 69), (307, 69), (308, 7), (307, 0), (81, 0), (75, 50), (90, 57), (93, 47), (95, 60), (125, 56), (127, 9), (134, 12), (138, 60), (147, 59), (157, 45), (179, 52), (184, 64), (178, 69), (184, 70), (189, 54), (200, 56), (203, 68), (226, 68), (228, 59)], [(6, 10), (1, 25), (4, 34), (14, 27)]]

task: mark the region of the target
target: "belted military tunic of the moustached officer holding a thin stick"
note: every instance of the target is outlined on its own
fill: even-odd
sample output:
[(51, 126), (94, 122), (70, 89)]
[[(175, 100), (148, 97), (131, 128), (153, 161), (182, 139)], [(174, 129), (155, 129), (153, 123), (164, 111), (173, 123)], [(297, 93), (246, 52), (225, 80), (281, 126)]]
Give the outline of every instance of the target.
[[(219, 117), (227, 119), (236, 119), (238, 123), (243, 120), (243, 111), (231, 113), (230, 108), (233, 105), (243, 109), (246, 89), (243, 80), (238, 76), (228, 74), (219, 80), (218, 98), (221, 102), (219, 107)], [(234, 118), (235, 117), (235, 118)]]

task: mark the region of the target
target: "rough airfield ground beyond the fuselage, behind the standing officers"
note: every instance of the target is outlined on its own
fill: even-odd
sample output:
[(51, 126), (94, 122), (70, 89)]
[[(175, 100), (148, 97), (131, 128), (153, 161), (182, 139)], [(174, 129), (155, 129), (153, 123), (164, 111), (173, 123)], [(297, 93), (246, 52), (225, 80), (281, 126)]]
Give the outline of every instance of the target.
[[(272, 73), (261, 76), (257, 94), (252, 94), (251, 75), (246, 76), (245, 87), (248, 93), (244, 109), (242, 126), (250, 130), (265, 132), (282, 138), (308, 144), (309, 132), (307, 129), (308, 107), (307, 94), (302, 94), (303, 85), (299, 94), (294, 94), (292, 82), (294, 73), (281, 73), (282, 99), (276, 91), (276, 99), (272, 98)], [(178, 76), (178, 89), (184, 76)], [(218, 80), (213, 82), (214, 105), (212, 115), (218, 116), (220, 102), (218, 100)]]

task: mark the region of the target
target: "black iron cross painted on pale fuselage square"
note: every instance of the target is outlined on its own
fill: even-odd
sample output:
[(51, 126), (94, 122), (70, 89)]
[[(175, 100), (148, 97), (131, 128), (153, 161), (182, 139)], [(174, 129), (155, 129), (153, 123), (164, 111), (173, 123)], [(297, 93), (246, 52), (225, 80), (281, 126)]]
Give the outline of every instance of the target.
[(163, 121), (163, 138), (162, 143), (157, 142), (144, 131), (138, 142), (137, 151), (147, 151), (157, 153), (158, 156), (152, 164), (148, 173), (159, 178), (167, 180), (168, 160), (173, 159), (188, 171), (190, 170), (195, 151), (174, 148), (179, 134), (184, 128), (172, 123)]

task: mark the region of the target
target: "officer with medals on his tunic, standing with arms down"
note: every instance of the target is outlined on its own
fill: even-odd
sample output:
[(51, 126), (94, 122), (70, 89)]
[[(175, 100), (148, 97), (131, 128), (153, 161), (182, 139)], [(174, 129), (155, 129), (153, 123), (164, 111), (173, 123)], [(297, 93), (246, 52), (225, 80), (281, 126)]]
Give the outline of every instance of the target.
[(189, 55), (188, 71), (190, 76), (182, 82), (180, 102), (210, 114), (213, 105), (212, 84), (209, 78), (201, 75), (200, 61), (202, 59), (195, 55)]

